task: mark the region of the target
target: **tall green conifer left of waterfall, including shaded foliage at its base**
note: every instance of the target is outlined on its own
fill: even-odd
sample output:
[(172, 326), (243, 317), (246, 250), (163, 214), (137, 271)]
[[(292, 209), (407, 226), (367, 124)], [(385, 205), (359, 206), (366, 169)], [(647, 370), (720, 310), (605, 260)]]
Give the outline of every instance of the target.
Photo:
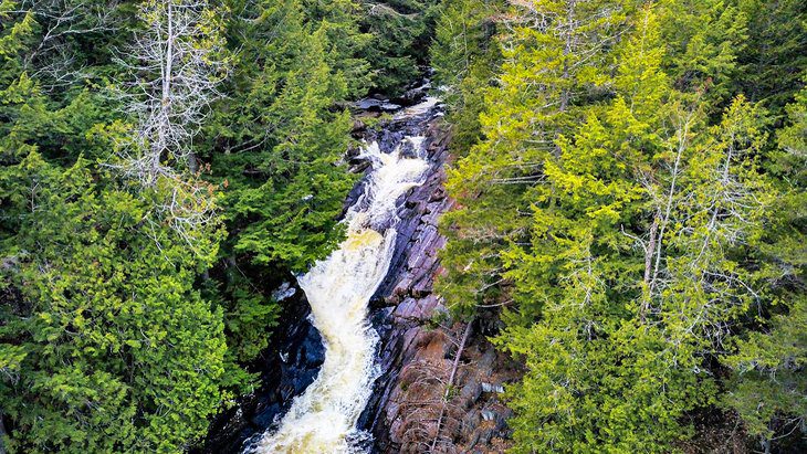
[(229, 352), (249, 361), (266, 347), (280, 313), (271, 291), (339, 242), (354, 178), (342, 160), (349, 118), (333, 107), (358, 88), (346, 82), (346, 67), (328, 65), (349, 51), (328, 36), (363, 38), (349, 22), (332, 23), (331, 8), (308, 11), (310, 19), (300, 1), (241, 8), (229, 24), (239, 49), (229, 98), (214, 105), (197, 155), (210, 163), (211, 181), (226, 186), (231, 232), (206, 287), (222, 300)]

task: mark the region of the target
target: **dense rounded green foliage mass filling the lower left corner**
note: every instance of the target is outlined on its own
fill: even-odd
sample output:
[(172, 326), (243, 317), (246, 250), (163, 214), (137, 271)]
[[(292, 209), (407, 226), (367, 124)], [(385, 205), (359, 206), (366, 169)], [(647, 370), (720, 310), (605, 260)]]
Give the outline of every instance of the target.
[(188, 254), (149, 200), (102, 190), (81, 160), (62, 169), (32, 151), (0, 182), (15, 221), (2, 224), (9, 447), (176, 452), (203, 435), (226, 345), (221, 315), (192, 287), (216, 233), (206, 256)]

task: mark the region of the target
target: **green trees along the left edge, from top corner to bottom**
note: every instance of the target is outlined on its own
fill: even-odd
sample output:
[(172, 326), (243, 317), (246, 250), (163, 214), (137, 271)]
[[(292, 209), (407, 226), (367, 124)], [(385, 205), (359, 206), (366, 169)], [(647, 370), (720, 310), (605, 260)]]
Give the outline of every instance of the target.
[[(193, 289), (199, 254), (82, 157), (125, 128), (92, 86), (29, 75), (35, 12), (2, 3), (0, 40), (0, 408), (11, 452), (179, 452), (221, 404), (222, 316)], [(45, 31), (46, 32), (46, 31)], [(119, 134), (119, 135), (118, 135)]]

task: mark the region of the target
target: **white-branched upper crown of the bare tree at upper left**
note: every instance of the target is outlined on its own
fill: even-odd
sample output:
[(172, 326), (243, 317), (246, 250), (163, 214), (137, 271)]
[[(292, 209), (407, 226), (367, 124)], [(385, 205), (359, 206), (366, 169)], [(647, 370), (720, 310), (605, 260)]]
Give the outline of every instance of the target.
[(144, 187), (177, 170), (198, 171), (191, 138), (209, 104), (221, 96), (218, 85), (228, 62), (221, 22), (203, 0), (147, 0), (140, 7), (146, 29), (119, 59), (132, 80), (119, 92), (136, 118), (132, 144), (118, 165)]

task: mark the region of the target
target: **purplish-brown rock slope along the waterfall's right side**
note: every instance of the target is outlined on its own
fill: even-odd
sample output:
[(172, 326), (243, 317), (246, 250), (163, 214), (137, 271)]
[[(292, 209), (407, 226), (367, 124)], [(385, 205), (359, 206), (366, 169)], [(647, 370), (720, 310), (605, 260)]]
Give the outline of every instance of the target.
[(443, 188), (449, 137), (436, 125), (432, 120), (426, 142), (432, 170), (399, 205), (390, 271), (371, 300), (381, 376), (359, 426), (373, 433), (378, 453), (503, 452), (511, 412), (501, 392), (517, 378), (518, 366), (488, 341), (499, 328), (494, 314), (479, 316), (471, 327), (444, 399), (464, 325), (439, 326), (436, 318), (446, 313), (432, 293), (446, 244), (438, 221), (453, 205)]

